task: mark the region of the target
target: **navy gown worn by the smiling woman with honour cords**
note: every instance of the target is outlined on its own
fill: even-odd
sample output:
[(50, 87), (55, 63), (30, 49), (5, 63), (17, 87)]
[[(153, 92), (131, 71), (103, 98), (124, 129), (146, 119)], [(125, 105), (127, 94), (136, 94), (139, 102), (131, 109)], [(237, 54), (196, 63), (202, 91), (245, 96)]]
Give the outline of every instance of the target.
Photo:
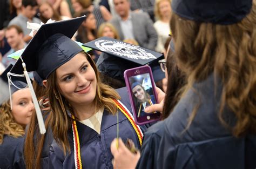
[[(126, 88), (117, 90), (121, 96), (121, 102), (131, 111), (129, 97), (127, 97)], [(119, 137), (126, 141), (127, 138), (132, 139), (134, 145), (140, 149), (140, 143), (136, 132), (134, 131), (130, 121), (124, 114), (118, 111), (119, 115)], [(100, 126), (100, 134), (90, 127), (77, 121), (77, 129), (80, 141), (80, 152), (82, 165), (84, 168), (113, 168), (112, 154), (110, 145), (114, 138), (117, 137), (117, 117), (104, 110), (102, 123)], [(140, 126), (144, 132), (146, 126)], [(64, 156), (56, 141), (53, 141), (50, 147), (50, 160), (54, 168), (75, 168), (74, 150), (73, 150), (73, 134), (72, 130), (68, 132), (69, 143), (71, 147), (70, 154)]]

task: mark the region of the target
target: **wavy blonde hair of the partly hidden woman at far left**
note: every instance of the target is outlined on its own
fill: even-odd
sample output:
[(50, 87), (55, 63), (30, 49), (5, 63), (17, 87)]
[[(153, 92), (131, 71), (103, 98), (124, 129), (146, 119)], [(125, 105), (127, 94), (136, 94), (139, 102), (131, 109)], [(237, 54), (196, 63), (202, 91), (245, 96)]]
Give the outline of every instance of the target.
[(10, 101), (0, 106), (0, 145), (3, 143), (4, 134), (15, 138), (24, 136), (23, 127), (12, 116)]

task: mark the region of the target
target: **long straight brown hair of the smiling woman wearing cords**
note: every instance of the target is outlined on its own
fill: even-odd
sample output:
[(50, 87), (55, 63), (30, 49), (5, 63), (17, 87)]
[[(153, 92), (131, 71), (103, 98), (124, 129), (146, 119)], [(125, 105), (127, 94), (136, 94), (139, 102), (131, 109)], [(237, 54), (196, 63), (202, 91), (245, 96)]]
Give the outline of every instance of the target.
[[(104, 108), (110, 113), (115, 114), (118, 109), (112, 99), (120, 99), (120, 96), (110, 86), (100, 82), (97, 67), (92, 58), (87, 53), (82, 53), (87, 58), (88, 62), (96, 73), (96, 109), (99, 110)], [(47, 80), (46, 95), (50, 100), (50, 112), (45, 120), (45, 127), (46, 130), (52, 130), (53, 138), (57, 141), (60, 147), (63, 148), (63, 152), (67, 153), (70, 152), (68, 131), (71, 127), (71, 118), (68, 116), (67, 110), (72, 114), (74, 113), (72, 107), (69, 106), (69, 103), (58, 91), (56, 72), (51, 73)], [(58, 99), (56, 98), (55, 94), (57, 95)], [(36, 116), (34, 116), (31, 119), (31, 124), (25, 140), (24, 157), (26, 168), (41, 168), (41, 153), (43, 151), (44, 138), (44, 135), (39, 135)], [(35, 147), (37, 147), (37, 151), (35, 151)]]

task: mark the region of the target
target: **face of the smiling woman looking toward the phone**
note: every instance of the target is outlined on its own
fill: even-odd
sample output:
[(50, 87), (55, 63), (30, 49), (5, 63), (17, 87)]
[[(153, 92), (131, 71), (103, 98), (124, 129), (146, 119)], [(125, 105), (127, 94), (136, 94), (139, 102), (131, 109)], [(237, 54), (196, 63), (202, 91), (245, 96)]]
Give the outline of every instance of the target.
[(56, 76), (60, 93), (72, 106), (91, 104), (95, 99), (96, 74), (82, 53), (58, 67)]

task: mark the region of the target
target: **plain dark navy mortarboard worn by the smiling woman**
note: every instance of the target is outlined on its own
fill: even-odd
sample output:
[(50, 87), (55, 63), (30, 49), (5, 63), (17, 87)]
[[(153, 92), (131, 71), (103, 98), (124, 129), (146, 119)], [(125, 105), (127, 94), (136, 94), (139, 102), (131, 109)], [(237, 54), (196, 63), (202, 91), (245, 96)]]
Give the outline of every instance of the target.
[[(47, 79), (59, 66), (83, 51), (70, 38), (84, 19), (85, 16), (42, 25), (22, 53), (26, 70), (37, 71), (42, 79)], [(21, 58), (17, 60), (11, 72), (23, 73)]]

